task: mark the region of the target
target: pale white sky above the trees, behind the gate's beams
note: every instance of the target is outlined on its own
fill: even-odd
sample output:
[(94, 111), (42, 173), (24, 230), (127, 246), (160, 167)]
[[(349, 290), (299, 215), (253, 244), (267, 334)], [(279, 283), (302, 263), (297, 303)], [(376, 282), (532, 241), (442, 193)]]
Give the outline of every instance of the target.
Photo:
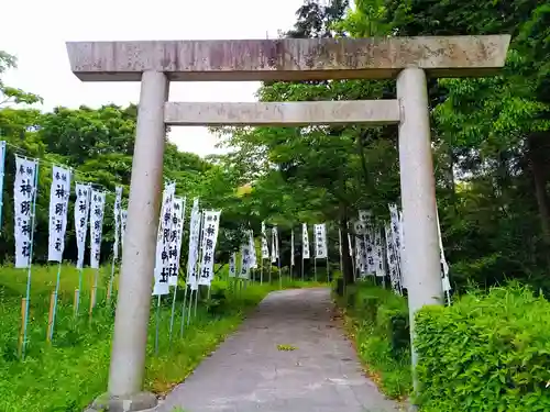
[[(276, 38), (302, 0), (18, 0), (1, 5), (0, 49), (18, 57), (3, 80), (41, 96), (43, 110), (138, 103), (139, 82), (81, 82), (67, 41)], [(258, 82), (173, 82), (170, 101), (255, 101)], [(172, 127), (168, 138), (199, 156), (221, 153), (206, 127)]]

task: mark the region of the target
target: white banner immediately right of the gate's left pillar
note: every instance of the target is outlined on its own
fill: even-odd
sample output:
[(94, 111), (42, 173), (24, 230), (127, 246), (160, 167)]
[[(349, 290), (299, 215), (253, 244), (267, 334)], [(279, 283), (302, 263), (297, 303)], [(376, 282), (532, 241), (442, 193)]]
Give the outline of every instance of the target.
[(176, 183), (165, 183), (163, 191), (163, 202), (161, 205), (161, 215), (158, 219), (158, 231), (156, 235), (155, 253), (155, 285), (153, 296), (168, 294), (169, 268), (169, 240), (172, 229), (172, 210), (174, 208), (174, 194)]

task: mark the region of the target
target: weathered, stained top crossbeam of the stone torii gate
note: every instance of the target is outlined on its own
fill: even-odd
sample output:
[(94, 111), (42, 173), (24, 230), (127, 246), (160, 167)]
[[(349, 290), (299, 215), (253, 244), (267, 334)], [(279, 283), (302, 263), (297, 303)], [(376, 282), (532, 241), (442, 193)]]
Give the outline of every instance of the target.
[(494, 74), (509, 35), (371, 38), (68, 42), (84, 81), (139, 81), (145, 70), (170, 80), (387, 79), (406, 67), (436, 77)]

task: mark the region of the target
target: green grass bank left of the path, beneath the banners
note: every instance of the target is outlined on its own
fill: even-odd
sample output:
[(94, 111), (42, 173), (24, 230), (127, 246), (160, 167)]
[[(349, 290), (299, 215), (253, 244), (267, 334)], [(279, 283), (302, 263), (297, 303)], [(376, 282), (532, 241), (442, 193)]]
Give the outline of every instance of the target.
[[(98, 307), (88, 319), (89, 290), (94, 271), (84, 276), (80, 316), (73, 316), (74, 290), (78, 285), (75, 268), (62, 268), (62, 287), (53, 344), (46, 343), (50, 293), (55, 286), (57, 267), (34, 267), (32, 271), (29, 344), (23, 361), (18, 358), (21, 324), (21, 298), (26, 271), (0, 268), (0, 411), (2, 412), (80, 412), (107, 388), (113, 308), (105, 302), (110, 268), (101, 269)], [(322, 285), (322, 283), (318, 283)], [(311, 283), (285, 280), (285, 288)], [(254, 308), (272, 286), (249, 285), (240, 292), (218, 281), (212, 299), (201, 302), (197, 318), (179, 337), (182, 301), (177, 302), (174, 339), (168, 344), (172, 294), (163, 299), (160, 326), (160, 354), (154, 355), (155, 305), (152, 302), (148, 327), (145, 388), (166, 392), (183, 381), (197, 364), (234, 331), (246, 312)], [(208, 307), (208, 310), (207, 310)]]

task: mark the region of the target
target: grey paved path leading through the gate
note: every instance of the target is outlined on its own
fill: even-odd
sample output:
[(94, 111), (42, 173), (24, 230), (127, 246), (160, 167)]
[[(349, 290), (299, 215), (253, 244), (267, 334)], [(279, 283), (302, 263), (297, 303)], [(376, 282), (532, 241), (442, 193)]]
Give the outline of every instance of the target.
[[(160, 405), (186, 412), (389, 412), (337, 321), (328, 289), (271, 293)], [(278, 350), (292, 345), (295, 350)], [(177, 410), (177, 409), (176, 409)]]

